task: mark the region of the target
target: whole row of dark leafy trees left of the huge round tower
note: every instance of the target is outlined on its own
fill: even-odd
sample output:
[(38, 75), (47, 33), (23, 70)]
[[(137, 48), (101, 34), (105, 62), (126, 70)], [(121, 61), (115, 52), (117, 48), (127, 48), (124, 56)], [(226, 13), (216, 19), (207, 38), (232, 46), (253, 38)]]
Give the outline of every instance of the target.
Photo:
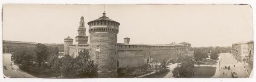
[[(59, 59), (58, 47), (38, 43), (34, 49), (21, 48), (12, 53), (12, 60), (19, 68), (28, 70), (34, 62), (38, 67), (52, 69), (52, 76), (64, 78), (93, 78), (97, 77), (97, 65), (90, 59), (87, 50), (80, 51), (77, 57), (64, 55)], [(46, 63), (48, 62), (48, 63)], [(43, 65), (42, 65), (43, 64)]]

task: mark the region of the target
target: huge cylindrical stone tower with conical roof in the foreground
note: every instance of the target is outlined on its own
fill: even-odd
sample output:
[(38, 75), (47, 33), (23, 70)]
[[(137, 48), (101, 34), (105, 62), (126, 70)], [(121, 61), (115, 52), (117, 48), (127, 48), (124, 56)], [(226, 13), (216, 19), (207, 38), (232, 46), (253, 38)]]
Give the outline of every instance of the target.
[(90, 56), (98, 65), (99, 78), (117, 77), (116, 42), (120, 23), (109, 19), (103, 12), (99, 19), (90, 21)]

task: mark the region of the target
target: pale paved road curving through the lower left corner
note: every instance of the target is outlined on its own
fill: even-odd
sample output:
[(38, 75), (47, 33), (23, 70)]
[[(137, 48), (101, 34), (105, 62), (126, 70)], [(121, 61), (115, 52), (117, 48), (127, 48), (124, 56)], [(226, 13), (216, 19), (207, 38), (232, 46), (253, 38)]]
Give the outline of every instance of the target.
[[(11, 68), (11, 56), (12, 54), (3, 54), (3, 65), (7, 67), (7, 69), (3, 69), (3, 74), (6, 77), (29, 77), (29, 78), (36, 78), (35, 76), (32, 76), (30, 74), (27, 74), (26, 72), (20, 70), (17, 65), (12, 65), (14, 69)], [(24, 76), (25, 74), (25, 76)]]

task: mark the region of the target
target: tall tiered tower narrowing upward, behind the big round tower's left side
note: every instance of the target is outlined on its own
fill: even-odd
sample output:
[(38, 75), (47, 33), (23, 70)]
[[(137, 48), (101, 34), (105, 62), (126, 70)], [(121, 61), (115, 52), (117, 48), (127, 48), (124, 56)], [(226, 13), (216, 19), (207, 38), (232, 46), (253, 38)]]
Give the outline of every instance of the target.
[(80, 25), (79, 28), (77, 29), (78, 34), (76, 36), (76, 44), (87, 44), (88, 42), (88, 36), (86, 36), (86, 28), (84, 27), (84, 17), (82, 16), (80, 18)]

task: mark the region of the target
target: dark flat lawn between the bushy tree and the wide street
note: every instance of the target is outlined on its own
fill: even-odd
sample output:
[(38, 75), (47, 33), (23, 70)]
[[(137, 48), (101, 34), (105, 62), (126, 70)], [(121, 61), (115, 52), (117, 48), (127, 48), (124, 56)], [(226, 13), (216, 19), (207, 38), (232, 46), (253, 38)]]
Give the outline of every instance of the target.
[(195, 67), (195, 76), (192, 78), (210, 78), (214, 76), (216, 67)]

